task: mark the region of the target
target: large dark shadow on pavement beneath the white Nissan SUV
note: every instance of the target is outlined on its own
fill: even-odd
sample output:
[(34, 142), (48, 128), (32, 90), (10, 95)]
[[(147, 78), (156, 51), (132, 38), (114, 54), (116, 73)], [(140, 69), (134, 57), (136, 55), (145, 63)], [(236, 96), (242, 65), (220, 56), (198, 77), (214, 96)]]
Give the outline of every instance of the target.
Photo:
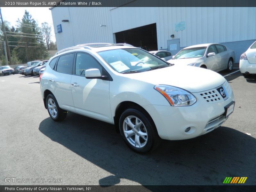
[(229, 127), (190, 140), (163, 140), (148, 154), (130, 150), (113, 125), (74, 113), (63, 122), (46, 118), (39, 130), (113, 174), (99, 178), (101, 186), (121, 179), (141, 185), (221, 185), (225, 177), (248, 177), (246, 184), (255, 185), (256, 140)]

